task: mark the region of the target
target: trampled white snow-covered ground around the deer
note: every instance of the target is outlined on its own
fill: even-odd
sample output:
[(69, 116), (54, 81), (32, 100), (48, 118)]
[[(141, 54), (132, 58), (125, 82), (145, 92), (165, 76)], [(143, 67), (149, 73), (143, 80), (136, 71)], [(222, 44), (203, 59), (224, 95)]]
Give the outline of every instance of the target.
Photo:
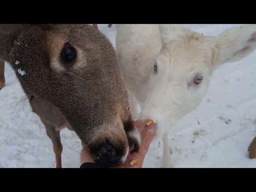
[[(115, 27), (100, 30), (115, 46)], [(233, 24), (188, 24), (192, 30), (217, 35)], [(0, 90), (0, 168), (54, 168), (52, 142), (6, 64), (6, 87)], [(202, 104), (169, 135), (175, 167), (256, 168), (248, 145), (256, 136), (256, 52), (214, 72)], [(62, 130), (62, 165), (78, 168), (81, 144), (74, 132)], [(162, 166), (162, 142), (154, 141), (144, 167)]]

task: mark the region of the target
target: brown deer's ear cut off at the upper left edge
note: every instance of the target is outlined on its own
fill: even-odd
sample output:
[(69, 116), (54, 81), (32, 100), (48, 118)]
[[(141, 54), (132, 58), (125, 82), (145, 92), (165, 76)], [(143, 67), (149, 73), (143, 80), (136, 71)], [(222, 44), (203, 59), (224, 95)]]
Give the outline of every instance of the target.
[(0, 58), (9, 61), (9, 53), (20, 24), (0, 24)]

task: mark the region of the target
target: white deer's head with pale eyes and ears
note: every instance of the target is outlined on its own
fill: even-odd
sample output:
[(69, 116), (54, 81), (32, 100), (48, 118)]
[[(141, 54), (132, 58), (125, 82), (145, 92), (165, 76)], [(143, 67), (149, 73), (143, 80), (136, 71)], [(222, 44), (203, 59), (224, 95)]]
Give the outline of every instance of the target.
[(142, 114), (167, 130), (202, 102), (220, 64), (255, 50), (256, 25), (234, 27), (216, 37), (182, 25), (160, 24), (159, 30), (162, 49), (152, 66)]

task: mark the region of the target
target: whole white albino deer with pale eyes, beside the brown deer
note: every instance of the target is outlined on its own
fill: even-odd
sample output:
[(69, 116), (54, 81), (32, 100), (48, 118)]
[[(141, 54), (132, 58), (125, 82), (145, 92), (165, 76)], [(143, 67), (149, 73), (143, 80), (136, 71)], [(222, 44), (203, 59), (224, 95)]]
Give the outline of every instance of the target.
[(130, 103), (140, 118), (158, 124), (164, 167), (173, 167), (168, 132), (206, 95), (210, 77), (223, 63), (236, 62), (256, 48), (256, 25), (233, 27), (217, 37), (180, 24), (117, 24), (116, 55)]

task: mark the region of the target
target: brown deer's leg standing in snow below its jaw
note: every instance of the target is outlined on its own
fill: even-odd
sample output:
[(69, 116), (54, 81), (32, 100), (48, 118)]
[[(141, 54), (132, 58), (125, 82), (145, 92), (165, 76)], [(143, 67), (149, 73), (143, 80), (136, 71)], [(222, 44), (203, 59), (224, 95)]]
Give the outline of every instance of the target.
[(47, 122), (42, 121), (48, 137), (52, 140), (53, 151), (56, 158), (56, 168), (61, 168), (61, 154), (62, 154), (62, 144), (60, 141), (60, 131), (56, 131), (55, 126)]

